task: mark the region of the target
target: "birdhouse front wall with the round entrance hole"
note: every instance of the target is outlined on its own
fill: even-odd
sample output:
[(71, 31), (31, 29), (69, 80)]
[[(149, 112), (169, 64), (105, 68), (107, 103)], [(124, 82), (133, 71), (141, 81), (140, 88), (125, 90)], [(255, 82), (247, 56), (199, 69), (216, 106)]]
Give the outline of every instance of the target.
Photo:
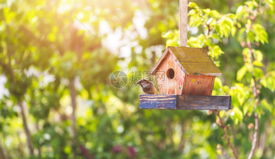
[[(167, 77), (167, 70), (169, 68), (172, 68), (174, 70), (174, 77), (172, 79), (169, 79)], [(160, 94), (182, 95), (185, 73), (178, 66), (177, 62), (173, 59), (170, 53), (168, 53), (167, 56), (164, 57), (157, 71), (159, 71), (159, 73), (156, 73), (156, 78)], [(161, 71), (164, 71), (164, 73), (161, 73)], [(165, 77), (161, 78), (162, 75)]]

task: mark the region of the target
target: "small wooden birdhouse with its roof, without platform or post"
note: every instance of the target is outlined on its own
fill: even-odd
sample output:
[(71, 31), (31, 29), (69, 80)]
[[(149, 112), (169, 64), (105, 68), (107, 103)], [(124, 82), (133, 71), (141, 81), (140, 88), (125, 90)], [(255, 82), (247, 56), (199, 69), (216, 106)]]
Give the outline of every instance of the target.
[(222, 72), (203, 48), (168, 46), (151, 74), (160, 94), (212, 95), (215, 76)]

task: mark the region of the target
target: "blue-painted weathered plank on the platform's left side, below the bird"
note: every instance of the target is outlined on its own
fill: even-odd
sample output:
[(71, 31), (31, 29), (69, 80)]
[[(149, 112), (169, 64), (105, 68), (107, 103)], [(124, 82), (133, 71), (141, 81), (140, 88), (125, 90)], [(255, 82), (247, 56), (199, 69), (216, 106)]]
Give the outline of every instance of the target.
[(141, 109), (177, 109), (176, 94), (140, 94)]

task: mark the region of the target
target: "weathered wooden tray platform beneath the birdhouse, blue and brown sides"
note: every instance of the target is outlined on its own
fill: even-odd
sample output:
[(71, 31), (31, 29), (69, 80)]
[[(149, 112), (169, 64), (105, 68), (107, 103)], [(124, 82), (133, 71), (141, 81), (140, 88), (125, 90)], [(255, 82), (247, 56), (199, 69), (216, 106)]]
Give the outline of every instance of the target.
[(140, 94), (140, 109), (229, 110), (231, 96)]

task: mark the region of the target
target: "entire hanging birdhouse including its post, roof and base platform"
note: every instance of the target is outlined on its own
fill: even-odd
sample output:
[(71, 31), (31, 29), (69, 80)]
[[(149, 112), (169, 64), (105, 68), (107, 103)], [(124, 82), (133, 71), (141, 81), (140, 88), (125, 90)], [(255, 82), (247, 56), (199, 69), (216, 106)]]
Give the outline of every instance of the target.
[(212, 95), (222, 75), (203, 48), (187, 46), (187, 0), (180, 0), (180, 47), (168, 46), (152, 69), (159, 94), (140, 94), (140, 109), (229, 110), (231, 96)]

